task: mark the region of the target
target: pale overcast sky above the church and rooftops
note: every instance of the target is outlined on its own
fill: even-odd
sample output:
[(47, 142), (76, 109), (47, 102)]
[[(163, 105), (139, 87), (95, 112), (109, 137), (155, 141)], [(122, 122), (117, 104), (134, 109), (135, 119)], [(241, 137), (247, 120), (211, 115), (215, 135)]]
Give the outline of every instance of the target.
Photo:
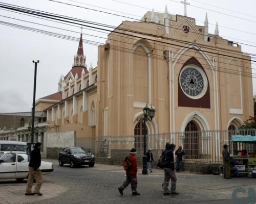
[[(122, 21), (132, 20), (126, 17), (141, 19), (146, 11), (152, 10), (152, 8), (157, 12), (164, 12), (165, 5), (167, 5), (168, 12), (171, 14), (184, 14), (184, 6), (179, 3), (179, 0), (56, 1), (79, 7), (49, 0), (2, 0), (2, 3), (104, 23), (115, 27)], [(218, 21), (220, 36), (244, 43), (242, 44), (243, 52), (256, 54), (256, 14), (254, 14), (256, 1), (188, 0), (188, 2), (190, 6), (187, 7), (187, 15), (196, 18), (196, 24), (203, 25), (207, 12), (209, 33), (214, 33), (215, 24)], [(32, 60), (40, 61), (37, 69), (36, 87), (36, 99), (38, 99), (57, 92), (57, 83), (60, 75), (65, 75), (72, 67), (78, 41), (13, 28), (7, 26), (7, 23), (9, 25), (13, 23), (74, 38), (79, 38), (81, 29), (78, 25), (52, 22), (0, 9), (0, 113), (30, 111), (34, 79)], [(86, 64), (90, 65), (92, 62), (93, 66), (96, 66), (97, 46), (92, 45), (92, 41), (94, 43), (104, 43), (108, 33), (96, 32), (86, 28), (82, 30), (82, 33), (84, 34), (83, 39), (89, 41), (89, 44), (87, 42), (83, 43)], [(253, 69), (256, 69), (255, 63), (252, 62)], [(253, 72), (255, 71), (253, 70)], [(256, 92), (256, 80), (254, 78), (252, 80), (253, 92)]]

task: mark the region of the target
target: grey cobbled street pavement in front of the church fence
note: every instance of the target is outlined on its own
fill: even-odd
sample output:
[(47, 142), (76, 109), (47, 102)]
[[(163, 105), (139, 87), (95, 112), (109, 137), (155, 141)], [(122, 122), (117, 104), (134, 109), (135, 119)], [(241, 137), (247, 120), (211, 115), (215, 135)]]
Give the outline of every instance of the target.
[[(59, 167), (56, 160), (54, 172), (45, 175), (41, 192), (43, 196), (25, 196), (26, 182), (0, 181), (0, 204), (3, 203), (238, 203), (231, 199), (234, 189), (239, 187), (256, 189), (255, 179), (247, 177), (224, 180), (218, 175), (177, 173), (178, 196), (163, 196), (161, 183), (163, 171), (154, 169), (148, 175), (138, 175), (138, 192), (132, 196), (130, 186), (121, 196), (117, 188), (125, 179), (121, 166), (96, 164), (95, 167), (69, 165)], [(239, 193), (246, 196), (246, 193)], [(248, 203), (248, 202), (244, 202)], [(253, 203), (256, 203), (256, 198)]]

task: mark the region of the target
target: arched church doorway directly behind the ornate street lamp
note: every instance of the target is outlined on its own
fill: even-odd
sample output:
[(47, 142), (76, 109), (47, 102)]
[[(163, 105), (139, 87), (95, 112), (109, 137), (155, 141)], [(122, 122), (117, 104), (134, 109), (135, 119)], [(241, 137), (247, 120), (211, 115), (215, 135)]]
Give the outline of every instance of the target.
[[(147, 127), (145, 131), (146, 131), (145, 134), (147, 136), (147, 133), (148, 133)], [(136, 149), (143, 149), (144, 147), (143, 145), (144, 145), (143, 122), (139, 121), (134, 127), (134, 147)]]

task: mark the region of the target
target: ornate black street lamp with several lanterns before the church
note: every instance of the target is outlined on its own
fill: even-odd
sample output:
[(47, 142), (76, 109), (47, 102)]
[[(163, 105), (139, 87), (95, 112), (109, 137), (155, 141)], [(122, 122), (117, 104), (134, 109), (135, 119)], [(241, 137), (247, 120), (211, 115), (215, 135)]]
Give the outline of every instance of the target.
[(137, 119), (137, 121), (143, 122), (143, 140), (144, 140), (144, 150), (143, 150), (143, 167), (142, 167), (142, 174), (147, 174), (147, 168), (146, 168), (146, 121), (152, 121), (152, 119), (155, 117), (156, 110), (146, 106), (143, 109), (143, 118)]

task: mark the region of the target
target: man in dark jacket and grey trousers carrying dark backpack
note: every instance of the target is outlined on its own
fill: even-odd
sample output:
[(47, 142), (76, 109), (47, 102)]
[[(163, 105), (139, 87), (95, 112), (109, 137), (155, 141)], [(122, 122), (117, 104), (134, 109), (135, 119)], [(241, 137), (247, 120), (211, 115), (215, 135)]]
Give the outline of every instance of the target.
[[(170, 144), (169, 149), (165, 149), (163, 151), (166, 154), (166, 165), (164, 166), (164, 182), (163, 182), (163, 195), (177, 195), (179, 193), (176, 192), (176, 174), (174, 171), (174, 150), (175, 144)], [(169, 181), (171, 180), (172, 186), (170, 191), (168, 190)]]

